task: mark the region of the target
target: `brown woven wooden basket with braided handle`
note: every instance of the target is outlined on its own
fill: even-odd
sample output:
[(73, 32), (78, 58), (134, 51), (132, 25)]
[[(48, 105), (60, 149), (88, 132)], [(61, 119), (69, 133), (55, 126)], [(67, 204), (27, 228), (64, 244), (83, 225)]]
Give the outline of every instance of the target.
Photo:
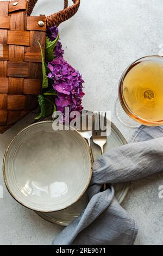
[(76, 14), (80, 0), (51, 16), (29, 16), (37, 0), (0, 2), (0, 133), (36, 108), (41, 93), (40, 48), (46, 28), (59, 26)]

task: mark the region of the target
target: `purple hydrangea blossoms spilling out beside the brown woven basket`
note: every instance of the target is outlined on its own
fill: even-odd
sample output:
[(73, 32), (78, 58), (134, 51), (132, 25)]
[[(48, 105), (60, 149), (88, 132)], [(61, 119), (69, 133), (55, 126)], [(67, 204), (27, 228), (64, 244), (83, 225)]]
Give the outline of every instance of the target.
[[(58, 28), (47, 29), (47, 35), (50, 40), (55, 40), (58, 35)], [(55, 99), (57, 110), (64, 112), (64, 107), (69, 106), (70, 111), (82, 111), (83, 79), (79, 71), (68, 64), (62, 55), (64, 51), (60, 42), (54, 48), (55, 59), (48, 63), (48, 77), (53, 80), (53, 88), (58, 92)]]

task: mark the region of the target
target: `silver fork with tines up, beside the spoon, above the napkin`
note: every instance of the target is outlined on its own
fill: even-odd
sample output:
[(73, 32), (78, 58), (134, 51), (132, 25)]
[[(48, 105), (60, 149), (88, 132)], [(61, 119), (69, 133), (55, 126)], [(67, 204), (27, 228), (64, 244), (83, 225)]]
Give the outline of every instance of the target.
[(104, 154), (104, 145), (107, 142), (107, 137), (102, 136), (103, 130), (101, 130), (101, 120), (103, 119), (104, 124), (106, 124), (106, 113), (105, 116), (103, 117), (103, 114), (100, 114), (98, 112), (98, 116), (96, 114), (95, 116), (95, 123), (93, 126), (93, 133), (92, 133), (92, 139), (93, 143), (97, 144), (101, 148), (101, 154)]

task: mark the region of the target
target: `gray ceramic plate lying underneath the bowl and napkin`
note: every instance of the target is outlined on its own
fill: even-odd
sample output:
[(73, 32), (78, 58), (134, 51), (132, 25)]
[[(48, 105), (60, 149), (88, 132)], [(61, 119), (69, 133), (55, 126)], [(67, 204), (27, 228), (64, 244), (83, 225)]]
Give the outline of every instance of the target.
[[(127, 144), (126, 139), (124, 139), (122, 133), (117, 129), (117, 127), (111, 123), (111, 135), (108, 137), (108, 141), (104, 146), (104, 152), (114, 149), (117, 147), (120, 147), (121, 145)], [(98, 146), (92, 143), (92, 152), (93, 157), (96, 160), (101, 152)], [(117, 198), (118, 202), (121, 204), (123, 199), (126, 197), (126, 194), (129, 190), (129, 183), (123, 182), (123, 183), (117, 183), (114, 184), (115, 188), (115, 197)], [(78, 217), (81, 212), (85, 209), (86, 205), (88, 203), (87, 194), (85, 193), (80, 200), (78, 200), (77, 203), (73, 204), (69, 208), (65, 210), (61, 210), (58, 212), (51, 212), (51, 213), (45, 213), (45, 212), (36, 212), (37, 215), (44, 218), (45, 220), (66, 226), (72, 222), (72, 220), (76, 217)]]

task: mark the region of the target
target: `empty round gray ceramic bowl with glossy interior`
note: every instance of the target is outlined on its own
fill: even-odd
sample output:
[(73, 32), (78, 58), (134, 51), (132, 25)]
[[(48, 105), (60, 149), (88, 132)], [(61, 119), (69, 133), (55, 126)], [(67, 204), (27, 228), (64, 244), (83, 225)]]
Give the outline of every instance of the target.
[(4, 155), (8, 191), (17, 202), (35, 211), (59, 211), (76, 203), (91, 174), (85, 139), (76, 130), (54, 131), (51, 121), (23, 129)]

